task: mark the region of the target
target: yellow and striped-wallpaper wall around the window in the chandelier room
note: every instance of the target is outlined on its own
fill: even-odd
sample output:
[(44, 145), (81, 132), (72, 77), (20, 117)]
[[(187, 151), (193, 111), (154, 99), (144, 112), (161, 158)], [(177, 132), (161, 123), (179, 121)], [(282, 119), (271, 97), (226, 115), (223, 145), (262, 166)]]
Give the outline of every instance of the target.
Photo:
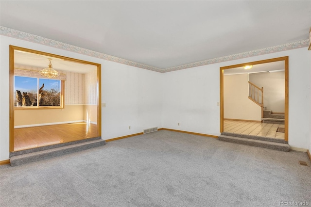
[[(97, 70), (88, 74), (62, 71), (65, 80), (65, 108), (14, 111), (15, 127), (33, 127), (90, 121), (97, 124)], [(87, 116), (88, 114), (88, 116)]]

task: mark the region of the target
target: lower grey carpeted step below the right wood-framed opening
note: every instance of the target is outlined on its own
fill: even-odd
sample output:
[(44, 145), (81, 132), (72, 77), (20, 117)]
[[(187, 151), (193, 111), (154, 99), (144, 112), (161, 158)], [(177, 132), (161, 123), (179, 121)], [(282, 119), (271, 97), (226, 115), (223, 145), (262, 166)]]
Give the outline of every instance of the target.
[(278, 151), (288, 152), (290, 150), (290, 145), (285, 144), (285, 143), (275, 143), (275, 142), (253, 140), (253, 139), (247, 139), (247, 138), (241, 138), (241, 137), (232, 137), (232, 136), (226, 136), (226, 135), (220, 135), (218, 139), (221, 141), (225, 141), (225, 142), (263, 147), (263, 148), (274, 149)]

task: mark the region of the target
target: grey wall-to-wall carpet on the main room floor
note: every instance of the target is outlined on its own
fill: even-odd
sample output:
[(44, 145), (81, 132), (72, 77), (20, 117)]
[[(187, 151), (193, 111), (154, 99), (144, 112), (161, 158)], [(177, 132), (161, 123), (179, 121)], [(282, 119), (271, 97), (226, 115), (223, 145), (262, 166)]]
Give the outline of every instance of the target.
[(161, 130), (16, 167), (1, 207), (274, 207), (311, 203), (307, 153)]

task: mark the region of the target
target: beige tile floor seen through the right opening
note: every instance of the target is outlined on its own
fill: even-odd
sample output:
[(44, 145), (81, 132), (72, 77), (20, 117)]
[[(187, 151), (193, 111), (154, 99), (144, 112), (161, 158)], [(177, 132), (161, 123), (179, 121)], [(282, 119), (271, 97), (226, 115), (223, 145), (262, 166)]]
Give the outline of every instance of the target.
[(224, 120), (225, 132), (284, 139), (283, 132), (276, 132), (277, 127), (284, 125)]

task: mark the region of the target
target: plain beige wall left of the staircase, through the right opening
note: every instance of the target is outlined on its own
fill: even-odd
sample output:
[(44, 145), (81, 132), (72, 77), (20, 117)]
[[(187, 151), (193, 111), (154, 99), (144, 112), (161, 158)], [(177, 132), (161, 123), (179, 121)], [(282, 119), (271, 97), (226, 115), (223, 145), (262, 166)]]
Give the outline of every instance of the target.
[(224, 118), (261, 121), (261, 107), (248, 98), (248, 74), (224, 76)]

